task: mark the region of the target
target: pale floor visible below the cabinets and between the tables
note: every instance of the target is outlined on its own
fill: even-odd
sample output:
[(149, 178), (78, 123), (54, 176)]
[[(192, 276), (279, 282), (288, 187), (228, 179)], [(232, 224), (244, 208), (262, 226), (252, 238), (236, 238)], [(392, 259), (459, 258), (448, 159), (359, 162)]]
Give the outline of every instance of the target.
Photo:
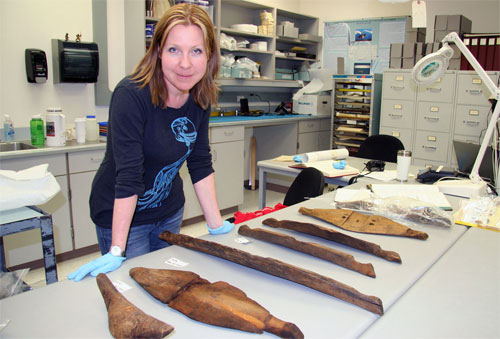
[[(267, 206), (274, 206), (278, 202), (283, 202), (283, 193), (278, 193), (274, 191), (267, 190), (266, 192), (266, 202)], [(239, 206), (241, 212), (253, 212), (258, 210), (259, 205), (259, 191), (244, 191), (244, 203)], [(232, 215), (223, 215), (222, 218), (226, 219), (232, 217)], [(208, 234), (206, 223), (199, 222), (189, 226), (184, 226), (181, 228), (182, 234), (187, 234), (193, 237), (200, 237), (202, 235)], [(66, 276), (91, 260), (94, 260), (101, 256), (100, 252), (88, 254), (73, 260), (67, 260), (57, 264), (57, 275), (59, 281), (66, 280)], [(30, 285), (32, 288), (39, 288), (45, 286), (45, 271), (43, 268), (31, 270), (24, 278), (24, 281)]]

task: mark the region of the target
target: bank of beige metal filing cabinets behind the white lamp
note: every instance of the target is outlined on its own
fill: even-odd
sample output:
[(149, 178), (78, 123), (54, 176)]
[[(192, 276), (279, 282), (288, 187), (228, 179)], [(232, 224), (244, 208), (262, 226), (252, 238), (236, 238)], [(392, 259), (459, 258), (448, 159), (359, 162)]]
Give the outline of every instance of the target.
[[(499, 72), (487, 72), (496, 83)], [(380, 133), (398, 137), (415, 165), (456, 166), (453, 140), (480, 143), (490, 93), (474, 71), (447, 71), (417, 86), (411, 70), (384, 72)]]

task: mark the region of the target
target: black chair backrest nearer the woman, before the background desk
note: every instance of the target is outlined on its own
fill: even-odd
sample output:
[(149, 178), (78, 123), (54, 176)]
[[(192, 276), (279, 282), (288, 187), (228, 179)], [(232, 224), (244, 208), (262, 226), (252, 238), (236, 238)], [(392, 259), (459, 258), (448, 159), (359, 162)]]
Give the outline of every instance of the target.
[(316, 168), (304, 168), (292, 182), (285, 195), (283, 205), (291, 206), (323, 194), (325, 176)]

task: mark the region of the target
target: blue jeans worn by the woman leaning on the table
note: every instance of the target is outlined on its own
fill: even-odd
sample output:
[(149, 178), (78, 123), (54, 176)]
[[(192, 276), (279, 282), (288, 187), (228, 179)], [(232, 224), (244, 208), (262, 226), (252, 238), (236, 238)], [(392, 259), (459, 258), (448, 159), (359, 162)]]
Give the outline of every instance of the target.
[[(167, 219), (153, 224), (130, 227), (127, 248), (125, 249), (127, 259), (170, 246), (169, 243), (161, 240), (158, 236), (164, 231), (179, 233), (183, 214), (184, 207)], [(111, 248), (111, 230), (111, 228), (96, 225), (99, 249), (103, 255), (108, 253)]]

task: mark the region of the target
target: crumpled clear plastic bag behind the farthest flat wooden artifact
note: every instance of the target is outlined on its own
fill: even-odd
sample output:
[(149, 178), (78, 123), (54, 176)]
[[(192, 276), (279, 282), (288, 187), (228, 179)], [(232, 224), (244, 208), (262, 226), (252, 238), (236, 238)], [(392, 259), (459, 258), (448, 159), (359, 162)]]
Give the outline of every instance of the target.
[(407, 225), (434, 225), (450, 227), (454, 224), (451, 213), (438, 206), (428, 204), (408, 197), (380, 198), (371, 193), (363, 200), (335, 202), (336, 208), (355, 209), (359, 211), (380, 214), (387, 218)]

